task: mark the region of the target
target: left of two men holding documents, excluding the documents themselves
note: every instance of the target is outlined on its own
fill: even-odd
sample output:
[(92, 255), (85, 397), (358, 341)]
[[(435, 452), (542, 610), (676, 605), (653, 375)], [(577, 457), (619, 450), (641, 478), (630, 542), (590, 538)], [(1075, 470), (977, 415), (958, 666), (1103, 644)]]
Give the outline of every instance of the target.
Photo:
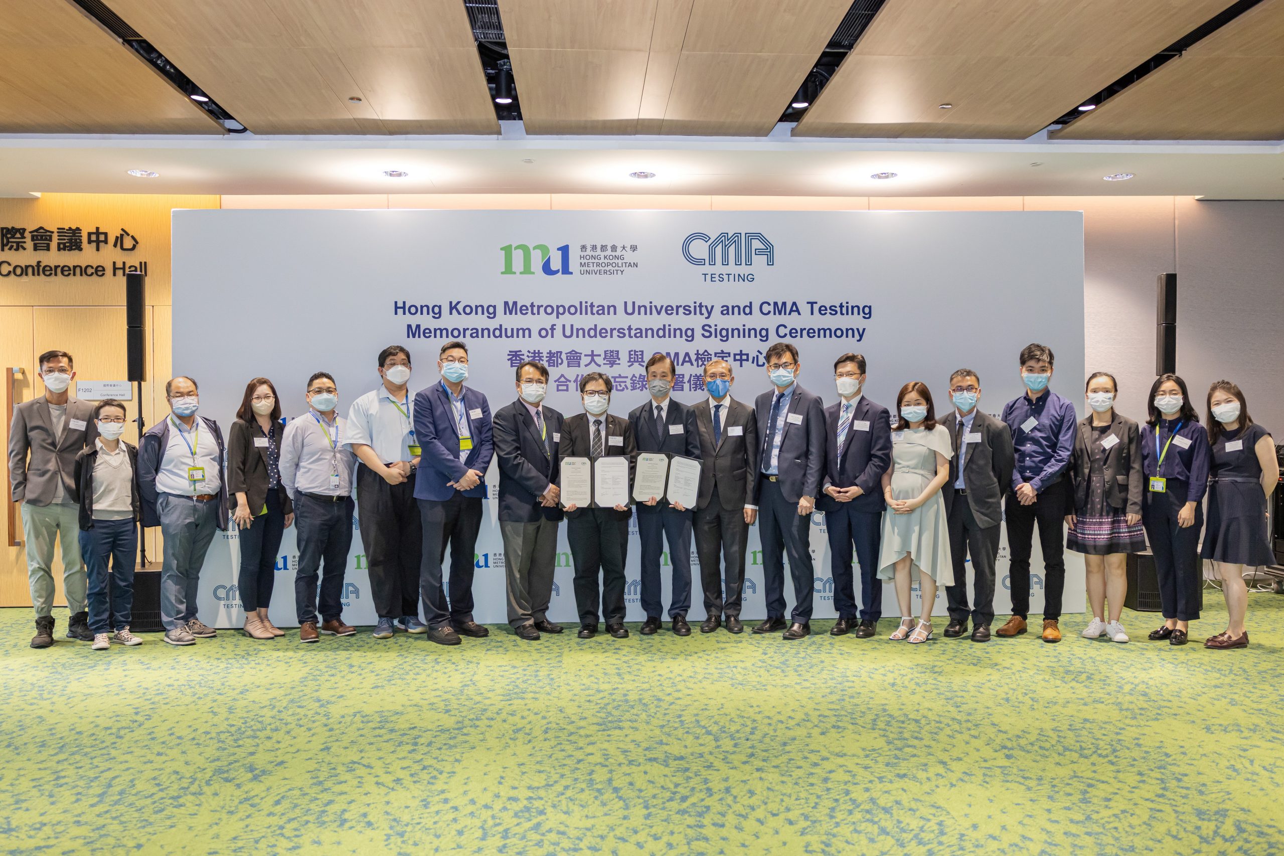
[[(629, 484), (633, 484), (633, 463), (637, 444), (629, 421), (611, 416), (611, 379), (602, 372), (589, 372), (579, 381), (584, 413), (575, 413), (562, 422), (559, 444), (559, 463), (566, 458), (593, 458), (627, 456)], [(597, 635), (598, 597), (606, 617), (606, 631), (616, 639), (629, 635), (624, 626), (624, 539), (628, 538), (629, 507), (566, 508), (566, 540), (575, 562), (575, 606), (579, 608), (579, 638)], [(602, 574), (598, 592), (598, 571)]]

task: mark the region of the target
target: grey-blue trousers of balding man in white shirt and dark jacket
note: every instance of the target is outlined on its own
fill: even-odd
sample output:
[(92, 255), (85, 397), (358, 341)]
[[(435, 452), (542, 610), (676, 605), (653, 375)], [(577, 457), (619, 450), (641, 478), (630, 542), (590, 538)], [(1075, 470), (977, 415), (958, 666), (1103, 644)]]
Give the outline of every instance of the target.
[(160, 566), (160, 624), (181, 628), (196, 617), (196, 583), (205, 551), (218, 531), (218, 501), (163, 493), (157, 497), (157, 515), (164, 536)]

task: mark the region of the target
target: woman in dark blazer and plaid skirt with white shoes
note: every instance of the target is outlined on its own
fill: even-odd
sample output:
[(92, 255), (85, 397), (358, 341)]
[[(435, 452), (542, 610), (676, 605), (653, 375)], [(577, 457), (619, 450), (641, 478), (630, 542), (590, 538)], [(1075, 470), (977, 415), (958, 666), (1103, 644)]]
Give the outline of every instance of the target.
[[(1084, 554), (1093, 620), (1085, 639), (1103, 634), (1127, 642), (1120, 622), (1127, 594), (1127, 554), (1145, 549), (1141, 529), (1141, 449), (1136, 422), (1115, 412), (1118, 384), (1107, 372), (1088, 379), (1084, 395), (1091, 415), (1080, 420), (1070, 457), (1075, 507), (1066, 515), (1066, 547)], [(1109, 621), (1106, 603), (1109, 602)]]

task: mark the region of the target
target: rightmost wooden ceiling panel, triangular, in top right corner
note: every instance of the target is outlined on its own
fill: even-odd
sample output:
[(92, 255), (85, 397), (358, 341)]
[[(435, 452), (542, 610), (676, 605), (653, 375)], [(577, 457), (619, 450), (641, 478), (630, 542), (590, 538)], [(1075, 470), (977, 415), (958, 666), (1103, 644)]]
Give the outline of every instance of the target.
[(1284, 3), (1253, 6), (1054, 136), (1284, 139)]

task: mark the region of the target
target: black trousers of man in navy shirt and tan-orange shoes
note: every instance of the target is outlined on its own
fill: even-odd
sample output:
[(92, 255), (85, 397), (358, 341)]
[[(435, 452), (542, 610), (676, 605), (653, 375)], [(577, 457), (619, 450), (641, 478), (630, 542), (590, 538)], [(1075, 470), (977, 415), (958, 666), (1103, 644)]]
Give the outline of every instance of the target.
[(1048, 485), (1032, 506), (1022, 506), (1017, 494), (1008, 494), (1004, 518), (1008, 521), (1008, 579), (1012, 584), (1012, 615), (1030, 616), (1030, 553), (1035, 526), (1044, 554), (1044, 617), (1061, 617), (1061, 597), (1066, 589), (1066, 479)]

